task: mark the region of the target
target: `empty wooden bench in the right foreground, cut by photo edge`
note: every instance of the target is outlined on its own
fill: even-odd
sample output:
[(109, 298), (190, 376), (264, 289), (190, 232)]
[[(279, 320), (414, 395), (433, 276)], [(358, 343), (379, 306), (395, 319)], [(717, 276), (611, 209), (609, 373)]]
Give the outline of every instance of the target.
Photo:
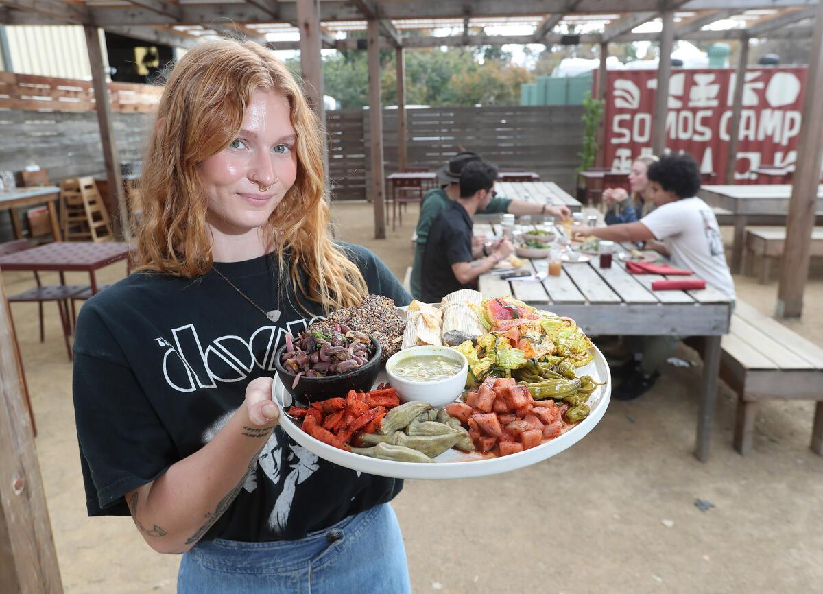
[(720, 377), (738, 396), (735, 449), (751, 449), (759, 401), (813, 400), (811, 449), (823, 456), (823, 349), (742, 301), (721, 345)]

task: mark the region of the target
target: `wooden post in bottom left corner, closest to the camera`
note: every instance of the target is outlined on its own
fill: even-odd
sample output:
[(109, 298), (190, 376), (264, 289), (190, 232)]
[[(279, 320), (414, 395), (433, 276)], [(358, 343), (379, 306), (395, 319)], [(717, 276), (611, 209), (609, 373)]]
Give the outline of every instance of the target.
[(3, 592), (62, 594), (35, 439), (0, 278), (0, 583)]

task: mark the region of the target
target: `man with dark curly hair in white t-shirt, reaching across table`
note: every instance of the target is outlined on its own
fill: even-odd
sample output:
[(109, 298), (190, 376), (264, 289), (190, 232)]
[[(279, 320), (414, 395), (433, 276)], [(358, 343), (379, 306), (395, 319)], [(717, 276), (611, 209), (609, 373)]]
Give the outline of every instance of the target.
[[(578, 232), (618, 242), (646, 242), (671, 258), (672, 265), (696, 276), (734, 299), (734, 281), (726, 263), (718, 221), (695, 194), (700, 167), (691, 155), (666, 155), (649, 165), (647, 198), (655, 209), (635, 223)], [(639, 397), (657, 381), (660, 366), (677, 346), (677, 336), (644, 336), (635, 361), (621, 371), (625, 381), (612, 393), (617, 400)]]

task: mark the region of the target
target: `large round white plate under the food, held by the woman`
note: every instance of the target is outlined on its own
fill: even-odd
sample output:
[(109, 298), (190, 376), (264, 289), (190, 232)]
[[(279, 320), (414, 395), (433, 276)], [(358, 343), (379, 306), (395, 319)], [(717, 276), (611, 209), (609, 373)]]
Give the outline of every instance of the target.
[[(435, 457), (434, 464), (395, 462), (393, 460), (361, 456), (360, 454), (334, 448), (305, 433), (299, 425), (295, 424), (286, 415), (281, 415), (280, 425), (291, 439), (294, 439), (295, 442), (310, 452), (329, 462), (354, 471), (398, 479), (430, 480), (464, 479), (495, 475), (514, 471), (556, 456), (556, 454), (563, 452), (573, 446), (574, 443), (579, 442), (580, 439), (583, 439), (602, 419), (611, 397), (611, 374), (605, 358), (600, 350), (597, 350), (597, 347), (593, 346), (593, 360), (579, 368), (578, 371), (580, 374), (591, 375), (598, 383), (605, 383), (605, 385), (597, 387), (589, 397), (588, 406), (590, 406), (591, 411), (588, 416), (579, 423), (566, 427), (564, 433), (555, 439), (546, 441), (537, 447), (523, 450), (523, 452), (504, 457), (489, 457), (477, 452), (465, 453), (450, 449)], [(382, 372), (378, 382), (384, 382), (386, 378), (385, 372)], [(277, 377), (274, 378), (272, 383), (272, 397), (281, 408), (287, 408), (293, 404), (291, 394), (286, 391)]]

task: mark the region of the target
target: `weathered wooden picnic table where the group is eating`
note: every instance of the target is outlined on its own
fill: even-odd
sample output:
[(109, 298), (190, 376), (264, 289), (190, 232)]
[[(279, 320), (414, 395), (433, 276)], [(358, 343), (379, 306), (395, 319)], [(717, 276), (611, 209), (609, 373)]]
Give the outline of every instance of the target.
[[(474, 225), (475, 234), (500, 234), (500, 225)], [(616, 246), (616, 254), (625, 248)], [(530, 260), (526, 267), (545, 271), (546, 260)], [(653, 291), (663, 276), (633, 275), (625, 262), (613, 259), (611, 268), (600, 268), (599, 258), (589, 262), (565, 262), (560, 276), (542, 281), (504, 281), (482, 275), (479, 290), (484, 297), (514, 295), (526, 304), (574, 318), (590, 336), (702, 336), (704, 373), (697, 424), (695, 455), (709, 457), (709, 436), (717, 397), (720, 338), (729, 331), (732, 302), (721, 291)], [(684, 276), (672, 276), (682, 279)]]

